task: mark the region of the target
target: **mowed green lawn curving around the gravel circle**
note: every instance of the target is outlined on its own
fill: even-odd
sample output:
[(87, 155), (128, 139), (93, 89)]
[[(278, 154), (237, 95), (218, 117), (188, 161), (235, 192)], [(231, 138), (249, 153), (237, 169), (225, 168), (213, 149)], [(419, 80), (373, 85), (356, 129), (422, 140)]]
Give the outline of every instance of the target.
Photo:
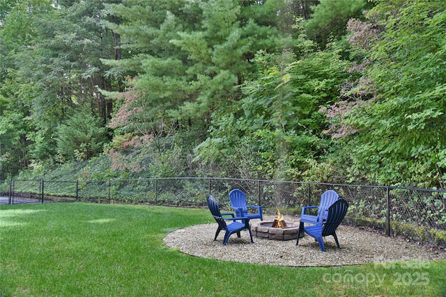
[(446, 295), (445, 261), (281, 267), (192, 257), (162, 242), (210, 222), (207, 209), (3, 205), (0, 296)]

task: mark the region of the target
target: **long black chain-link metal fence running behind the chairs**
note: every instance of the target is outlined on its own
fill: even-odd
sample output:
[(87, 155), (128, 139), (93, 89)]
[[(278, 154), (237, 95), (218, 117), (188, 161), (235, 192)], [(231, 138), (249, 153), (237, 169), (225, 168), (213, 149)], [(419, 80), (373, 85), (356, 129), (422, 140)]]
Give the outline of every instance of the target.
[(333, 189), (350, 204), (346, 216), (349, 223), (385, 230), (388, 235), (413, 237), (410, 234), (415, 233), (415, 237), (424, 240), (427, 236), (428, 241), (436, 244), (446, 240), (445, 190), (214, 177), (0, 181), (0, 192), (9, 204), (84, 201), (206, 207), (206, 197), (211, 193), (221, 207), (229, 209), (228, 194), (233, 188), (246, 193), (248, 204), (262, 205), (266, 211), (286, 209), (295, 214), (304, 205), (318, 205), (321, 194)]

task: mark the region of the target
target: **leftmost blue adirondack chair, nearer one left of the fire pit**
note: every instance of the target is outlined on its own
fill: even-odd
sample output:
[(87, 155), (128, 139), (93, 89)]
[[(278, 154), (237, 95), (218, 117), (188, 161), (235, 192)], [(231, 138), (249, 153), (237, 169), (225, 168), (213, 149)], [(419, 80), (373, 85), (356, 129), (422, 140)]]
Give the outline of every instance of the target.
[[(231, 212), (224, 212), (224, 213), (220, 212), (220, 206), (217, 200), (215, 200), (215, 198), (213, 198), (212, 195), (208, 195), (208, 208), (210, 210), (210, 213), (213, 215), (213, 217), (218, 223), (218, 228), (217, 232), (215, 232), (214, 241), (217, 240), (217, 236), (218, 234), (220, 234), (220, 231), (222, 230), (226, 231), (226, 233), (224, 234), (223, 246), (226, 245), (226, 242), (228, 241), (229, 236), (231, 236), (231, 234), (237, 233), (237, 236), (240, 237), (240, 231), (249, 230), (249, 236), (251, 236), (251, 242), (252, 243), (254, 242), (252, 240), (251, 227), (249, 226), (249, 219), (247, 217), (234, 216), (234, 214)], [(230, 216), (230, 218), (224, 218), (223, 216)], [(232, 220), (233, 223), (226, 224), (225, 220)], [(243, 223), (237, 222), (236, 220), (242, 220)]]

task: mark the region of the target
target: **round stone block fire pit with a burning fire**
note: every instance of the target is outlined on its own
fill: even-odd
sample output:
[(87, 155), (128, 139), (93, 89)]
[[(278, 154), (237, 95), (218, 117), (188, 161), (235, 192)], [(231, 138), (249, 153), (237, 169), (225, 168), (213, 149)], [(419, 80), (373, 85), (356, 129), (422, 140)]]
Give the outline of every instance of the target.
[[(272, 227), (274, 220), (263, 220), (252, 223), (252, 235), (261, 239), (291, 240), (296, 239), (299, 232), (298, 223), (286, 223), (286, 227)], [(303, 234), (301, 234), (302, 236)]]

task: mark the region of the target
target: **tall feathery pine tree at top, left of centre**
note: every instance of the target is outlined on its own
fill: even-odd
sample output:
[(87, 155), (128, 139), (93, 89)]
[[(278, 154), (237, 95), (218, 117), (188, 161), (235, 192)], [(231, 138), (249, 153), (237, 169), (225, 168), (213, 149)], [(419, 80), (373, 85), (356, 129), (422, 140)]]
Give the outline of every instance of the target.
[[(259, 11), (275, 15), (275, 3), (284, 2), (268, 3), (146, 1), (107, 6), (124, 20), (114, 30), (128, 55), (106, 63), (112, 71), (137, 76), (132, 83), (144, 109), (134, 116), (149, 119), (155, 143), (174, 135), (174, 142), (188, 154), (206, 138), (213, 112), (240, 99), (237, 86), (255, 70), (250, 61), (255, 51), (292, 46), (289, 35), (256, 17)], [(136, 127), (127, 127), (134, 129), (128, 135), (139, 137)]]

